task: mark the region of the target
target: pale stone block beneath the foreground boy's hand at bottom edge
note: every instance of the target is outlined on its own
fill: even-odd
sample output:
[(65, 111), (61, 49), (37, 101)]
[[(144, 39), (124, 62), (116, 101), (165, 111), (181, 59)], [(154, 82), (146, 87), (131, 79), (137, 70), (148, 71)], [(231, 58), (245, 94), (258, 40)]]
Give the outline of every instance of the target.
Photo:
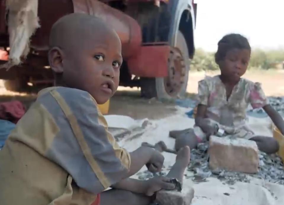
[(159, 205), (190, 205), (193, 196), (192, 187), (184, 187), (182, 192), (161, 190), (157, 192), (155, 202)]

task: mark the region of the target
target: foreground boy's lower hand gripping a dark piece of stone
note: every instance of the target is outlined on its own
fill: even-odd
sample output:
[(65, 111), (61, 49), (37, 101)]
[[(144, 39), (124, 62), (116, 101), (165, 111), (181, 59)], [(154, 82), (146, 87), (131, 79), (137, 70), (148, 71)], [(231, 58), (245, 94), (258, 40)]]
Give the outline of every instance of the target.
[(145, 195), (152, 196), (155, 192), (161, 189), (173, 190), (175, 185), (168, 183), (169, 178), (167, 177), (153, 177), (146, 181)]

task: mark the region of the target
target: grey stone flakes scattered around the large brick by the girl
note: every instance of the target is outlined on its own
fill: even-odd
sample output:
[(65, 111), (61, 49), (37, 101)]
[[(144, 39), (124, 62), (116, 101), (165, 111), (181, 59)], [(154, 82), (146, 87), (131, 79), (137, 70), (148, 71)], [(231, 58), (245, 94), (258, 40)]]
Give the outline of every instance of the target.
[[(226, 170), (212, 171), (209, 168), (209, 143), (199, 143), (196, 149), (191, 150), (191, 160), (187, 168), (188, 172), (184, 173), (186, 178), (192, 178), (195, 183), (206, 182), (208, 177), (216, 177), (219, 180), (229, 185), (235, 184), (237, 181), (250, 182), (250, 177), (263, 179), (271, 183), (284, 185), (284, 167), (283, 162), (276, 154), (265, 154), (259, 152), (259, 172), (256, 174), (246, 174), (241, 172), (231, 172)], [(158, 173), (160, 176), (165, 176), (167, 170)], [(194, 173), (192, 175), (192, 172)], [(191, 174), (190, 174), (191, 173)], [(140, 180), (146, 180), (153, 177), (153, 174), (145, 171), (138, 173)]]

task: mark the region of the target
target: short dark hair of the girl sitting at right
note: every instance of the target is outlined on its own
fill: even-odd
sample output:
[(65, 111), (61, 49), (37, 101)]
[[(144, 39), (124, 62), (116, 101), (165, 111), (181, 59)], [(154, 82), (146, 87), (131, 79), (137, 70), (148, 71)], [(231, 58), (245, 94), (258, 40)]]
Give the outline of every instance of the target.
[(232, 33), (225, 35), (218, 42), (218, 50), (215, 54), (215, 62), (223, 60), (227, 52), (231, 49), (248, 49), (251, 51), (251, 46), (248, 43), (248, 39), (240, 34)]

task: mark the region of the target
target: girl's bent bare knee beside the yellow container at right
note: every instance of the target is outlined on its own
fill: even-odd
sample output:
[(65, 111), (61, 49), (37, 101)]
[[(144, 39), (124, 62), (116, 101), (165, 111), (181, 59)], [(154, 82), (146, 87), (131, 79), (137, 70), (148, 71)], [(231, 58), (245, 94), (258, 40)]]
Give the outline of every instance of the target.
[(279, 150), (279, 143), (273, 137), (255, 136), (250, 140), (255, 141), (259, 150), (267, 154), (273, 154)]

